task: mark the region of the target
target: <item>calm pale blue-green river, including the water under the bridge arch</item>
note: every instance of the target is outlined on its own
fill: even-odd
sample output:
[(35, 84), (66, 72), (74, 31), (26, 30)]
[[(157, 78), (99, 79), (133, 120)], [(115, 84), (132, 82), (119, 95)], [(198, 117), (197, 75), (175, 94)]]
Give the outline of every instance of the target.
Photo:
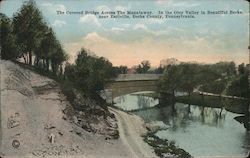
[(140, 93), (116, 97), (113, 101), (115, 106), (132, 110), (145, 122), (161, 126), (155, 135), (174, 141), (195, 157), (245, 156), (248, 152), (250, 133), (234, 119), (240, 114), (183, 103), (155, 107), (158, 99)]

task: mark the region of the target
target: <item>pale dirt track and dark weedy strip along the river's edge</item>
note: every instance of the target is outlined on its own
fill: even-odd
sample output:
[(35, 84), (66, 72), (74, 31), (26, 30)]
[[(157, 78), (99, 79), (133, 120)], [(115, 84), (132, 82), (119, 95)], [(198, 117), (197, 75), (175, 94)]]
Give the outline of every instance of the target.
[(158, 126), (145, 124), (139, 116), (134, 114), (128, 114), (114, 108), (109, 109), (115, 114), (118, 120), (121, 140), (131, 149), (131, 152), (136, 157), (192, 157), (188, 152), (177, 147), (174, 142), (162, 140), (155, 136), (154, 134)]

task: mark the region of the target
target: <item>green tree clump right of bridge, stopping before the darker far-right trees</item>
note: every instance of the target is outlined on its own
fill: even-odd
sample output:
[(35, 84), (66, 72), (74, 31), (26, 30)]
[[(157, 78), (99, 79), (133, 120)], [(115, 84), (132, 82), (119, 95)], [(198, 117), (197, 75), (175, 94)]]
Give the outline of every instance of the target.
[(219, 62), (211, 65), (181, 63), (165, 68), (159, 82), (159, 92), (174, 95), (175, 91), (188, 92), (195, 88), (221, 94), (227, 80), (236, 73), (234, 62)]

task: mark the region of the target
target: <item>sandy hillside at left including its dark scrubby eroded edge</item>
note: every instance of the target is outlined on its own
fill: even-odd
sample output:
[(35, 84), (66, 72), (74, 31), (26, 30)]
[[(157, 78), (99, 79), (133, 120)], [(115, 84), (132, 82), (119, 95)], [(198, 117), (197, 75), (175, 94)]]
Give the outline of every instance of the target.
[[(79, 104), (95, 104), (84, 97), (76, 99)], [(147, 144), (142, 148), (133, 142), (136, 149), (131, 149), (126, 138), (141, 139), (145, 131), (132, 135), (119, 131), (122, 139), (110, 139), (118, 136), (114, 115), (99, 105), (86, 105), (83, 111), (75, 110), (54, 80), (1, 60), (0, 156), (145, 157), (150, 153), (152, 157)], [(138, 117), (123, 115), (137, 124), (133, 126), (142, 127)]]

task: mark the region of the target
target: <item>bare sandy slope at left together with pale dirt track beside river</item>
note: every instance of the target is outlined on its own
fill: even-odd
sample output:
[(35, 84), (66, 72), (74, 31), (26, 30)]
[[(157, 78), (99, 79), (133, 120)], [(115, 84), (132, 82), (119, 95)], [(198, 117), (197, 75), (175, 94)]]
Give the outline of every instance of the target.
[[(114, 111), (121, 138), (105, 140), (62, 119), (67, 104), (53, 80), (1, 60), (1, 156), (154, 157), (140, 137), (140, 119)], [(49, 142), (51, 134), (55, 143)]]

